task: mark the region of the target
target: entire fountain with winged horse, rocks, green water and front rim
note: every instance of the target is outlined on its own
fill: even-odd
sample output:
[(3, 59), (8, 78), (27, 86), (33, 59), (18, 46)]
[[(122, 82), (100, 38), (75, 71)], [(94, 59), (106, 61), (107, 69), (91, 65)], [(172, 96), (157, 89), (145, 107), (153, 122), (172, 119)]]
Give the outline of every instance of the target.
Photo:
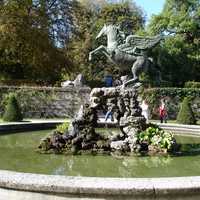
[[(105, 25), (98, 36), (108, 33), (108, 30), (113, 36), (109, 38), (115, 38), (115, 32), (121, 34), (116, 26)], [(20, 172), (0, 170), (0, 196), (15, 200), (199, 199), (200, 177), (196, 176), (200, 173), (197, 159), (199, 144), (194, 145), (199, 143), (199, 139), (193, 138), (193, 143), (189, 144), (190, 148), (195, 147), (195, 157), (191, 154), (179, 157), (157, 156), (159, 153), (166, 153), (166, 150), (175, 151), (175, 139), (159, 127), (147, 124), (138, 103), (138, 87), (141, 85), (139, 71), (148, 67), (150, 62), (145, 52), (160, 39), (159, 36), (128, 36), (125, 44), (108, 42), (108, 47), (100, 46), (92, 51), (90, 58), (97, 52), (102, 52), (111, 61), (124, 63), (122, 66), (129, 66), (129, 63), (133, 66), (133, 78), (124, 81), (119, 87), (93, 89), (89, 102), (81, 106), (68, 130), (65, 133), (54, 131), (53, 135), (43, 139), (40, 144), (40, 149), (44, 152), (77, 154), (89, 151), (96, 154), (119, 151), (125, 155), (155, 152), (156, 156), (122, 156), (115, 159), (112, 156), (36, 154), (32, 143), (34, 140), (37, 143), (47, 132), (43, 136), (41, 132), (38, 135), (4, 135), (0, 140), (0, 168)], [(139, 40), (139, 44), (135, 40)], [(120, 132), (110, 136), (96, 130), (99, 110), (112, 112)], [(188, 141), (191, 142), (191, 139), (187, 139), (186, 143)], [(188, 145), (185, 146), (185, 150), (187, 149)], [(171, 178), (160, 178), (162, 176)]]

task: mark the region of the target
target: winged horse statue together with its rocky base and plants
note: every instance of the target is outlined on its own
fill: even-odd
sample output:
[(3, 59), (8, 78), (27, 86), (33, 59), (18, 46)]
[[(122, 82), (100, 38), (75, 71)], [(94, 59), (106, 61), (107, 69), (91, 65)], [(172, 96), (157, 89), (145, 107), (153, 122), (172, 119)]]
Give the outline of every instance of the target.
[[(117, 38), (124, 34), (112, 24), (104, 25), (97, 38), (103, 34), (108, 38), (107, 47), (100, 46), (91, 51), (89, 59), (97, 53), (103, 53), (110, 61), (124, 68), (132, 66), (133, 77), (117, 87), (94, 88), (89, 102), (81, 106), (68, 131), (65, 134), (55, 131), (51, 138), (42, 141), (39, 148), (48, 152), (53, 150), (65, 153), (90, 151), (122, 154), (175, 150), (177, 145), (172, 134), (165, 133), (155, 125), (147, 124), (138, 102), (138, 88), (141, 86), (139, 74), (144, 68), (150, 67), (147, 51), (157, 45), (162, 37), (129, 35), (125, 43), (118, 44)], [(119, 134), (103, 136), (96, 132), (99, 110), (106, 110), (108, 116), (115, 116), (121, 131)], [(144, 132), (151, 127), (155, 129), (149, 134), (151, 136), (147, 135), (148, 140), (145, 138), (142, 140), (140, 134), (145, 134)], [(157, 133), (154, 133), (155, 131)]]

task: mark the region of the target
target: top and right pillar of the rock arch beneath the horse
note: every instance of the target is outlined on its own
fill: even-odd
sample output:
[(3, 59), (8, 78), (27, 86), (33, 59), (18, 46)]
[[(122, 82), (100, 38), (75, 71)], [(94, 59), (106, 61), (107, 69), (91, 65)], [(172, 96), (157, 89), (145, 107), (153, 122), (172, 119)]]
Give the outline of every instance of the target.
[(111, 149), (134, 151), (137, 134), (146, 129), (146, 119), (137, 98), (138, 91), (134, 88), (94, 88), (91, 91), (91, 105), (110, 112), (118, 121), (121, 133), (111, 139)]

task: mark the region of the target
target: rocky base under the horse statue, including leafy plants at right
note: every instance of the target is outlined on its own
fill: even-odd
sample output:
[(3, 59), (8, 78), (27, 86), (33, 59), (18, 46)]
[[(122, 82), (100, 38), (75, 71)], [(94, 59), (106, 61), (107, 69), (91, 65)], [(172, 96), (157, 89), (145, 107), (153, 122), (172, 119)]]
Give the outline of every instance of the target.
[[(54, 131), (50, 138), (42, 141), (40, 149), (70, 154), (119, 152), (125, 155), (130, 152), (173, 151), (176, 147), (173, 135), (164, 132), (156, 125), (146, 124), (137, 99), (138, 92), (135, 88), (93, 89), (89, 103), (81, 107), (68, 131), (65, 134)], [(96, 132), (100, 110), (106, 112), (105, 120), (108, 117), (117, 120), (121, 132), (115, 135)]]

